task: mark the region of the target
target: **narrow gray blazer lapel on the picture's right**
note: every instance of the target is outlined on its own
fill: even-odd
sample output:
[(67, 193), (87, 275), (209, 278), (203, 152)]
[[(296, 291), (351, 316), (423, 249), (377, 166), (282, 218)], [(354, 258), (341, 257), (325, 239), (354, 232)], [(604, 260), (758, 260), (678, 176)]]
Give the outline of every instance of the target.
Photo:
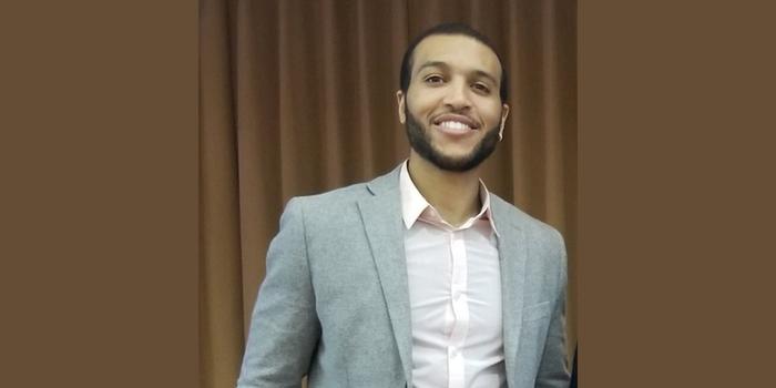
[(504, 340), (507, 382), (514, 387), (514, 370), (522, 327), (523, 285), (528, 249), (524, 232), (507, 217), (504, 203), (491, 196), (492, 216), (499, 231), (498, 248), (501, 261), (501, 309)]

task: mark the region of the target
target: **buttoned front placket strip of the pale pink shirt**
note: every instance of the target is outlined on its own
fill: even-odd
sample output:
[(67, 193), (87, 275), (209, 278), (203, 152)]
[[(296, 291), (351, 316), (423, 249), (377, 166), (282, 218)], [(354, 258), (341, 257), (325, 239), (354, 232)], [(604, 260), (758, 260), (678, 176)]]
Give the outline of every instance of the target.
[(469, 306), (467, 302), (467, 256), (462, 231), (450, 232), (450, 298), (453, 326), (448, 346), (448, 378), (450, 388), (463, 388), (463, 346), (469, 330)]

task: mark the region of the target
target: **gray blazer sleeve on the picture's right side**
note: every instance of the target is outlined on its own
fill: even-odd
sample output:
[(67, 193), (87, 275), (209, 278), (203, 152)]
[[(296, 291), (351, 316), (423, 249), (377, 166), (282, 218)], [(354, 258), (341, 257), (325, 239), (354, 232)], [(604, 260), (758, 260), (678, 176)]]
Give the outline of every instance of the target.
[(544, 353), (539, 365), (537, 388), (566, 388), (569, 387), (569, 368), (565, 349), (565, 292), (568, 284), (566, 254), (563, 237), (555, 231), (558, 239), (555, 247), (558, 259), (558, 296), (555, 307), (550, 320), (550, 328), (544, 343)]

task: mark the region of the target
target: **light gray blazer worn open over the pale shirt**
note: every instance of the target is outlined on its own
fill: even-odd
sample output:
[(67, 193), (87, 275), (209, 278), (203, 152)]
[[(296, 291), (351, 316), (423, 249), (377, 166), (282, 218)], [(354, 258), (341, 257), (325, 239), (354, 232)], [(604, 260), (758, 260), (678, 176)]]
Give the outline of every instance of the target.
[[(269, 244), (238, 388), (412, 387), (399, 171), (292, 198)], [(507, 381), (568, 387), (565, 248), (491, 194), (499, 231)]]

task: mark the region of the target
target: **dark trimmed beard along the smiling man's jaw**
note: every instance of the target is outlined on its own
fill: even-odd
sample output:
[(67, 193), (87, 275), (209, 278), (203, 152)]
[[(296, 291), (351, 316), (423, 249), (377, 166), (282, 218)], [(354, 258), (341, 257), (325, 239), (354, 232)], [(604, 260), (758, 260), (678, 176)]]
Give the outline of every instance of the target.
[(484, 162), (484, 160), (496, 151), (496, 144), (499, 143), (500, 126), (496, 125), (486, 133), (484, 137), (482, 137), (468, 155), (460, 157), (448, 156), (433, 147), (431, 144), (431, 135), (428, 133), (428, 130), (415, 120), (415, 116), (409, 112), (406, 105), (405, 115), (407, 116), (407, 124), (405, 124), (405, 127), (407, 129), (409, 145), (422, 159), (443, 171), (457, 173), (470, 171)]

